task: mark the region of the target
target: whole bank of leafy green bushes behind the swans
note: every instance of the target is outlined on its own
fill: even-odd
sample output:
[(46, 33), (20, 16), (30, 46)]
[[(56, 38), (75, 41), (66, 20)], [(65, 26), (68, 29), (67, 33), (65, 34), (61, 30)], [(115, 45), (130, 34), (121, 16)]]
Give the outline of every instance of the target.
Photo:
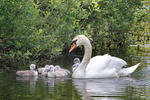
[(48, 61), (85, 34), (93, 49), (150, 40), (147, 0), (0, 0), (0, 68)]

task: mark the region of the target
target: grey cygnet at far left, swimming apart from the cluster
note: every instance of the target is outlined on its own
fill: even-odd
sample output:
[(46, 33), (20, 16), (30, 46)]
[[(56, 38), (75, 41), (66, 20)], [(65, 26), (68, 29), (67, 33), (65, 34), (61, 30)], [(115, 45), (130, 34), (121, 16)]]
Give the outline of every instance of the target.
[(38, 76), (38, 71), (35, 64), (30, 65), (30, 70), (17, 71), (16, 75), (18, 76)]

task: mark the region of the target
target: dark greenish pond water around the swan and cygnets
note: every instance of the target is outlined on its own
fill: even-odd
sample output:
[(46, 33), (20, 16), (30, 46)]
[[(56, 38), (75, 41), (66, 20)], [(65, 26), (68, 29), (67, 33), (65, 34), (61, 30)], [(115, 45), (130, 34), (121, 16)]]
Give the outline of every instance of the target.
[[(16, 77), (0, 73), (0, 100), (150, 100), (150, 44), (132, 45), (126, 52), (110, 52), (130, 65), (141, 66), (130, 77), (111, 79), (53, 79)], [(71, 69), (73, 57), (54, 63)]]

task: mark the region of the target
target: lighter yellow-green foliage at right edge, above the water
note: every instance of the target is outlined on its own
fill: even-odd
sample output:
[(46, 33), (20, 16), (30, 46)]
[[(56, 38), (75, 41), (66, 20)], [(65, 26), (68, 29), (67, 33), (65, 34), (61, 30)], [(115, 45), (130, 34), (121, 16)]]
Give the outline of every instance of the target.
[(143, 7), (136, 11), (131, 32), (135, 41), (144, 43), (150, 40), (150, 3), (144, 0), (142, 4)]

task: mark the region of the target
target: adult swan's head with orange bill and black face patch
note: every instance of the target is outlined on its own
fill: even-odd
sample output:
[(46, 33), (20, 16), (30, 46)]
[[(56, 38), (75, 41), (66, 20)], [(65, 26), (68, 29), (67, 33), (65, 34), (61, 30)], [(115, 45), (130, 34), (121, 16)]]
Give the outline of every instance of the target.
[(85, 35), (77, 35), (73, 38), (72, 43), (71, 43), (71, 48), (69, 52), (74, 50), (76, 47), (85, 44), (86, 42), (89, 42), (89, 39)]

